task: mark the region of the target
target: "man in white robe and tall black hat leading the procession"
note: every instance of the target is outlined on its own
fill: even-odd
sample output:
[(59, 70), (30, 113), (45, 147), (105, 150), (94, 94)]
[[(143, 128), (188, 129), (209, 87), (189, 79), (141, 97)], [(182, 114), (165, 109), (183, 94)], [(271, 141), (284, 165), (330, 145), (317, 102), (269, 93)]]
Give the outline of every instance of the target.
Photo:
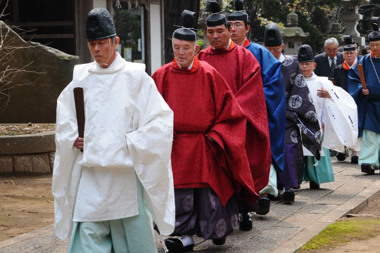
[[(68, 252), (157, 252), (151, 216), (161, 234), (174, 230), (173, 113), (145, 66), (116, 52), (115, 35), (106, 9), (89, 12), (95, 61), (75, 66), (57, 101), (52, 193), (56, 235), (72, 230)], [(84, 138), (76, 87), (84, 91)]]

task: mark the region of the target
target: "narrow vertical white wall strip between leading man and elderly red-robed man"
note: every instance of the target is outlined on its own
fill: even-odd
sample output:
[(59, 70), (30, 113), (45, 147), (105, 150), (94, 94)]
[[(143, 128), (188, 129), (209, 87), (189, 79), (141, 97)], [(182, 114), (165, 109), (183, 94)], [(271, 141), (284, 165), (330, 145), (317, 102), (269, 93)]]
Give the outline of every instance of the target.
[[(161, 67), (161, 11), (160, 5), (151, 4), (151, 72)], [(149, 57), (149, 56), (148, 56)]]

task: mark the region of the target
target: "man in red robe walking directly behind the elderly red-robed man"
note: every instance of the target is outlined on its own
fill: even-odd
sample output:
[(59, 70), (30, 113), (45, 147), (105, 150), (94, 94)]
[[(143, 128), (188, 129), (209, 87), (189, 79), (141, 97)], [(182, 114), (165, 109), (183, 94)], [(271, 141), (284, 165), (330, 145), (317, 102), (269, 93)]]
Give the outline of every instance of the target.
[[(217, 1), (209, 1), (208, 7), (214, 13), (206, 19), (206, 32), (211, 46), (198, 53), (198, 58), (222, 74), (247, 117), (246, 153), (255, 190), (260, 192), (268, 184), (272, 161), (260, 65), (250, 51), (237, 46), (230, 39), (227, 18), (218, 14), (220, 6)], [(270, 205), (270, 200), (265, 197), (262, 199)], [(269, 209), (269, 206), (265, 208)], [(252, 223), (249, 212), (255, 211), (255, 207), (242, 203), (240, 209), (241, 220)]]

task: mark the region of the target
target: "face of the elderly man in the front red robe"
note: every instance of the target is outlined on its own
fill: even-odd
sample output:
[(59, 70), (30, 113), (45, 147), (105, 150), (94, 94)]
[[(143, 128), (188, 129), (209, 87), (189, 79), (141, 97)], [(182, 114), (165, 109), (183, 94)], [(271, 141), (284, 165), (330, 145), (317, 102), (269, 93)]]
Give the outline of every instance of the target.
[(184, 41), (173, 38), (173, 51), (177, 63), (183, 68), (187, 68), (193, 63), (194, 56), (199, 50), (196, 41)]

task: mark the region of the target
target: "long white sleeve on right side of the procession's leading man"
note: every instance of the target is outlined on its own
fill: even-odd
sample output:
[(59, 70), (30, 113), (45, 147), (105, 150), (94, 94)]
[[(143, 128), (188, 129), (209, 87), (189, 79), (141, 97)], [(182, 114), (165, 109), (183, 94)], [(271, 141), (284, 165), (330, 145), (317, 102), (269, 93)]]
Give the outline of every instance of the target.
[(175, 225), (171, 168), (173, 112), (158, 93), (153, 79), (143, 74), (133, 115), (134, 131), (126, 134), (134, 169), (144, 186), (144, 199), (163, 235)]

